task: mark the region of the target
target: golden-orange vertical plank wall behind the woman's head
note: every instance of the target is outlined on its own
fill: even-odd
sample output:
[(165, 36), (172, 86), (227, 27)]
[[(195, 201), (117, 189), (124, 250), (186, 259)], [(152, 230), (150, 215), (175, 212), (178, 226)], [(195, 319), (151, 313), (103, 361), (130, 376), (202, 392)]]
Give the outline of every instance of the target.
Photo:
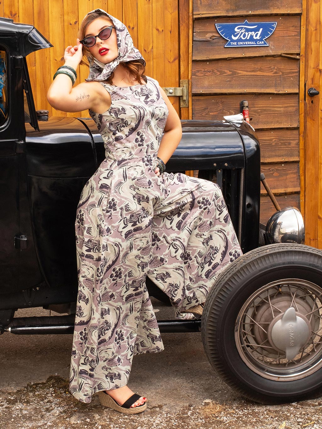
[[(178, 1), (189, 13), (184, 0), (3, 0), (0, 15), (33, 24), (54, 45), (27, 57), (36, 109), (48, 109), (50, 115), (88, 117), (87, 111), (55, 111), (46, 99), (52, 76), (63, 64), (65, 47), (76, 43), (86, 13), (100, 8), (124, 22), (146, 60), (146, 74), (161, 87), (176, 87), (179, 79), (188, 79), (180, 78)], [(88, 68), (80, 66), (78, 75), (77, 83), (84, 81)], [(171, 97), (171, 101), (179, 112), (179, 98)]]

